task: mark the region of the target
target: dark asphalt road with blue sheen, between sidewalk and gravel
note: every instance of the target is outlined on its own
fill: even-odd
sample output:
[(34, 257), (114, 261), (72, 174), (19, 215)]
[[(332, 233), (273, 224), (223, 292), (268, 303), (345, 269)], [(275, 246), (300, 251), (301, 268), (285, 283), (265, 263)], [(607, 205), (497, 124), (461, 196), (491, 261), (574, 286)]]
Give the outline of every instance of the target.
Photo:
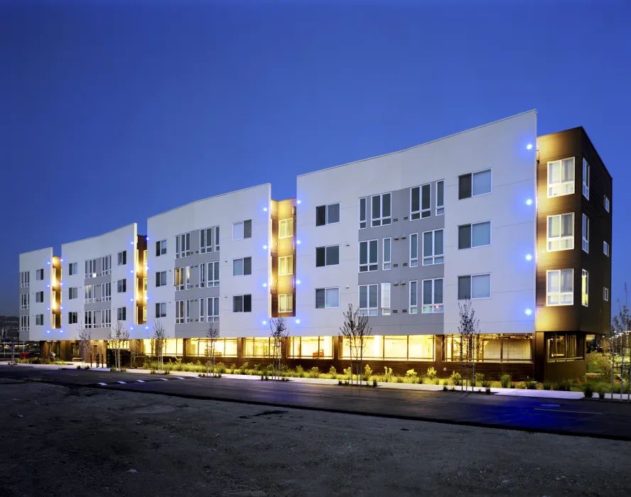
[[(308, 385), (223, 378), (0, 366), (1, 378), (631, 441), (631, 405), (480, 393)], [(123, 383), (120, 383), (123, 382)], [(104, 383), (104, 385), (99, 385)]]

